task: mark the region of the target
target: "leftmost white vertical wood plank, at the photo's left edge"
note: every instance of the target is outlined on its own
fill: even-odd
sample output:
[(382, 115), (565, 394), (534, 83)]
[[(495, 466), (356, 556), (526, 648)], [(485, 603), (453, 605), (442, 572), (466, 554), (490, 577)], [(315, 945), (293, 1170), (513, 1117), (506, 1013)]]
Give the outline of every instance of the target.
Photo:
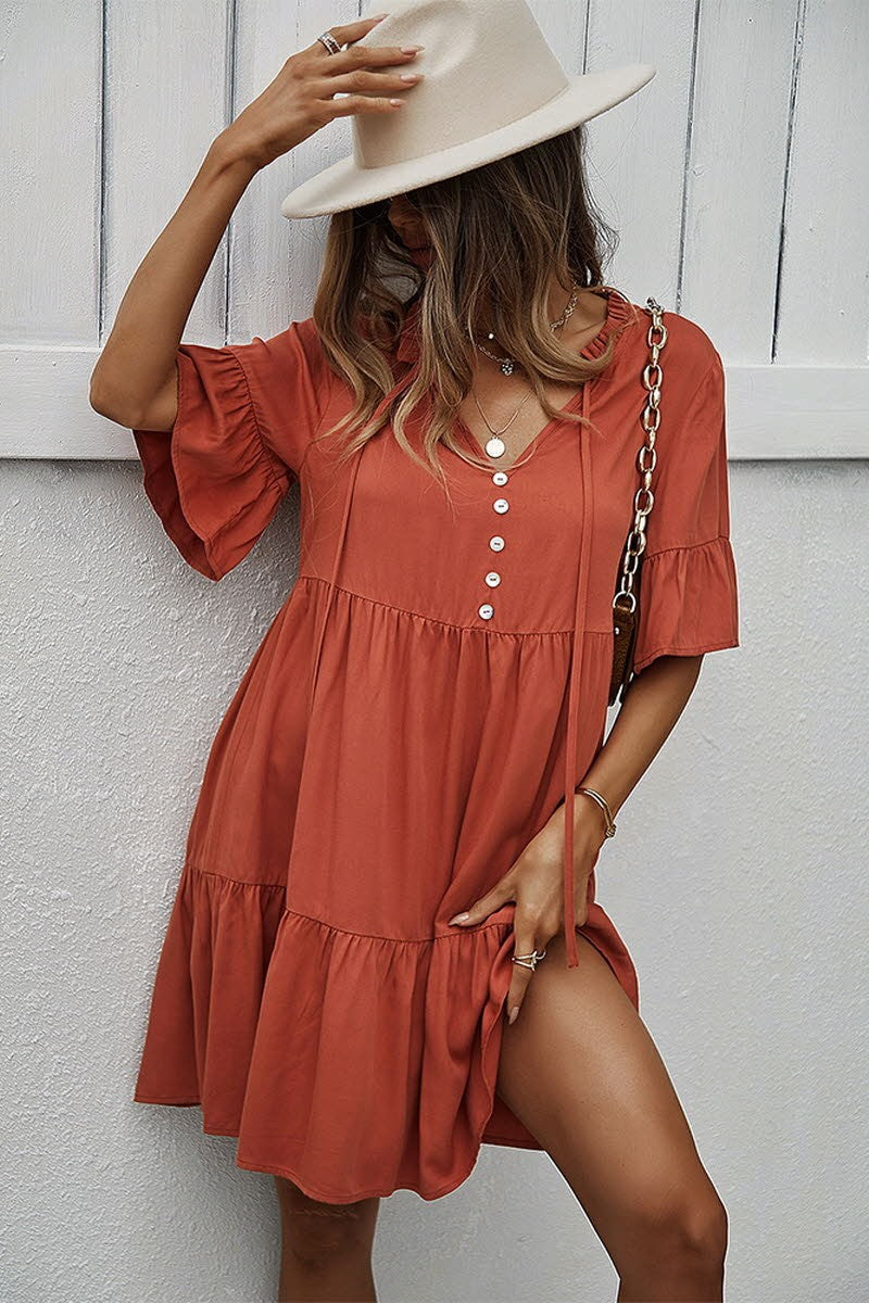
[(94, 343), (100, 0), (5, 5), (0, 34), (0, 340)]

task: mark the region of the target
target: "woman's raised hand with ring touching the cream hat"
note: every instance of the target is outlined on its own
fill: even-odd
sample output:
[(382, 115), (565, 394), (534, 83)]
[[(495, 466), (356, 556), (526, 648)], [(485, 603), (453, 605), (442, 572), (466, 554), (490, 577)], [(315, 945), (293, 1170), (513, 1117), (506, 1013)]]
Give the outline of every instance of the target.
[[(356, 46), (380, 18), (336, 25), (328, 30), (340, 46), (330, 55), (322, 42), (291, 55), (262, 95), (251, 100), (227, 126), (215, 145), (232, 158), (245, 159), (255, 168), (266, 167), (281, 154), (307, 139), (334, 117), (353, 113), (396, 113), (421, 73), (396, 66), (412, 64), (417, 48), (401, 46)], [(391, 72), (377, 69), (391, 68)], [(334, 99), (337, 93), (343, 99)]]

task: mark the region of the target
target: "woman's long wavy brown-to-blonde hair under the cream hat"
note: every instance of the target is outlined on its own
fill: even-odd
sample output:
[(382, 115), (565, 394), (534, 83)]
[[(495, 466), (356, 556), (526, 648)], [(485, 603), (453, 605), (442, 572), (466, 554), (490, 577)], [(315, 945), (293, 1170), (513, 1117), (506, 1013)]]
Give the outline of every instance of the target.
[[(436, 478), (436, 444), (460, 451), (455, 413), (470, 391), (473, 344), (481, 323), (522, 366), (548, 420), (582, 421), (546, 397), (543, 379), (577, 388), (605, 370), (615, 343), (610, 335), (599, 357), (571, 352), (548, 326), (550, 275), (559, 272), (565, 293), (571, 281), (595, 289), (602, 249), (615, 251), (616, 233), (597, 211), (585, 180), (584, 126), (463, 172), (408, 190), (431, 241), (422, 270), (387, 219), (390, 201), (349, 208), (332, 216), (323, 272), (314, 300), (314, 322), (331, 369), (353, 391), (353, 407), (319, 438), (343, 430), (349, 456), (390, 421), (405, 452)], [(409, 279), (401, 298), (390, 285)], [(418, 302), (420, 360), (399, 384), (391, 353), (412, 304)], [(615, 334), (615, 332), (614, 332)], [(397, 388), (396, 388), (397, 386)], [(392, 390), (391, 401), (377, 408)], [(430, 401), (421, 431), (423, 459), (406, 439), (405, 422), (421, 400)]]

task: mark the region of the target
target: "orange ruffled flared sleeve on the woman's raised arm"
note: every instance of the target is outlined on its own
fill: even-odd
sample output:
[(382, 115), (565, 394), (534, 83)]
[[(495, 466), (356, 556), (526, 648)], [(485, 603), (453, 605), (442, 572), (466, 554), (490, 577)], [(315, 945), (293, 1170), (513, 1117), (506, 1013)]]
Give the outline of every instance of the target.
[(313, 319), (249, 344), (180, 344), (171, 430), (133, 430), (143, 487), (184, 559), (219, 580), (298, 474), (330, 371)]

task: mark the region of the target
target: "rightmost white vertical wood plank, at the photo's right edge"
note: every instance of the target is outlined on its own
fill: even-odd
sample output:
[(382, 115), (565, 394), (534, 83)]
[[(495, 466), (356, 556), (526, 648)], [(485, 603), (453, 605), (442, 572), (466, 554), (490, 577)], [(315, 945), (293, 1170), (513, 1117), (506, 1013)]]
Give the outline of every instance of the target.
[(869, 4), (804, 4), (774, 361), (865, 365)]

